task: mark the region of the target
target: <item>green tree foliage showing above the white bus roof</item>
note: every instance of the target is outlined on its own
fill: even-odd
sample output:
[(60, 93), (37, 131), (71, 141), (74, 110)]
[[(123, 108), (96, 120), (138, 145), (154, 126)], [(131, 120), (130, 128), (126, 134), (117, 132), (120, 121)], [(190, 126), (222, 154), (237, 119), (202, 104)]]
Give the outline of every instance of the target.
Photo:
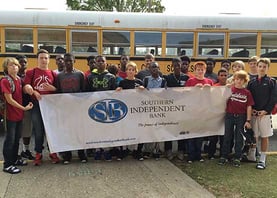
[(72, 10), (163, 12), (161, 0), (66, 0)]

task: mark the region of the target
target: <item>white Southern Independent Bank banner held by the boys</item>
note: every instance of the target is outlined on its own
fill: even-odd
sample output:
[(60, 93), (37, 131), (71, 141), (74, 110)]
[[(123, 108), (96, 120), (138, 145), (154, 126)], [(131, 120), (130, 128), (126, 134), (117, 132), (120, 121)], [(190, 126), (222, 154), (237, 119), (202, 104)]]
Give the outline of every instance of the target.
[(44, 95), (51, 152), (222, 135), (225, 87)]

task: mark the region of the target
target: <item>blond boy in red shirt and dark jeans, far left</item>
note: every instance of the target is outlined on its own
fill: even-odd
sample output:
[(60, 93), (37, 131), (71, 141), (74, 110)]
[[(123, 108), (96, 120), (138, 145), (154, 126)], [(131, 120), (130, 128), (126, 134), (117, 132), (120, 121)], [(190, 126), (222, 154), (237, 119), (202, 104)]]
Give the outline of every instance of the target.
[(10, 174), (21, 172), (16, 165), (27, 165), (25, 161), (18, 159), (17, 154), (22, 132), (23, 111), (33, 108), (32, 103), (27, 104), (25, 107), (22, 106), (22, 84), (21, 79), (17, 77), (19, 67), (20, 65), (15, 58), (6, 58), (3, 62), (3, 69), (7, 77), (1, 80), (1, 90), (6, 101), (7, 124), (7, 133), (3, 146), (3, 171)]

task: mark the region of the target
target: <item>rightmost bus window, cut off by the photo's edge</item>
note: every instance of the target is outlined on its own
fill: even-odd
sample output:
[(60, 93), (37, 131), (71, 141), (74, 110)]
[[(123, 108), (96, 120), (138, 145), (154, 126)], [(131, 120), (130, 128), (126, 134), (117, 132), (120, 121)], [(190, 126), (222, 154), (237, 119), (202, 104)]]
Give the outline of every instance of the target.
[(277, 33), (262, 33), (261, 57), (277, 58)]

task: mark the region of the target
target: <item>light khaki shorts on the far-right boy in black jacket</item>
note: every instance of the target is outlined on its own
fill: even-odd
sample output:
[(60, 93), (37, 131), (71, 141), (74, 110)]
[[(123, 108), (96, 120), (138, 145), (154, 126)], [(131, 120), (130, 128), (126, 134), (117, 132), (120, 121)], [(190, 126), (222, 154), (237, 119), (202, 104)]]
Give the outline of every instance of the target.
[(255, 137), (270, 137), (273, 135), (271, 115), (264, 115), (262, 117), (253, 116), (251, 126)]

